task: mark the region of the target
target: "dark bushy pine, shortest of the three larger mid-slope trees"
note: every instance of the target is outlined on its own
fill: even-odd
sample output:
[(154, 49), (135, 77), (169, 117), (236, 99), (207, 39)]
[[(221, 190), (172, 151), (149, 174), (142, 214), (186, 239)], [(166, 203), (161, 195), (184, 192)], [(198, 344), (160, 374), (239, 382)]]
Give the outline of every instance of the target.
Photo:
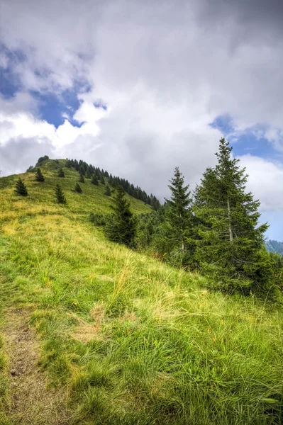
[(113, 215), (105, 227), (106, 236), (113, 242), (132, 246), (135, 237), (135, 218), (121, 186), (116, 187), (111, 208)]

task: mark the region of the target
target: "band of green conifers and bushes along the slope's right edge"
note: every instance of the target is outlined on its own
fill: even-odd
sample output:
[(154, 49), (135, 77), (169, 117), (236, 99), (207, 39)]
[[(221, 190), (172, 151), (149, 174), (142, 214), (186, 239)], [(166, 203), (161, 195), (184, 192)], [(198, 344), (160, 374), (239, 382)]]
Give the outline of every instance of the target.
[(283, 258), (265, 248), (268, 225), (259, 225), (260, 202), (246, 191), (248, 175), (231, 151), (221, 139), (216, 166), (204, 171), (193, 193), (177, 167), (171, 197), (156, 211), (134, 216), (117, 186), (111, 217), (91, 220), (114, 242), (200, 271), (211, 288), (274, 297), (283, 286)]

